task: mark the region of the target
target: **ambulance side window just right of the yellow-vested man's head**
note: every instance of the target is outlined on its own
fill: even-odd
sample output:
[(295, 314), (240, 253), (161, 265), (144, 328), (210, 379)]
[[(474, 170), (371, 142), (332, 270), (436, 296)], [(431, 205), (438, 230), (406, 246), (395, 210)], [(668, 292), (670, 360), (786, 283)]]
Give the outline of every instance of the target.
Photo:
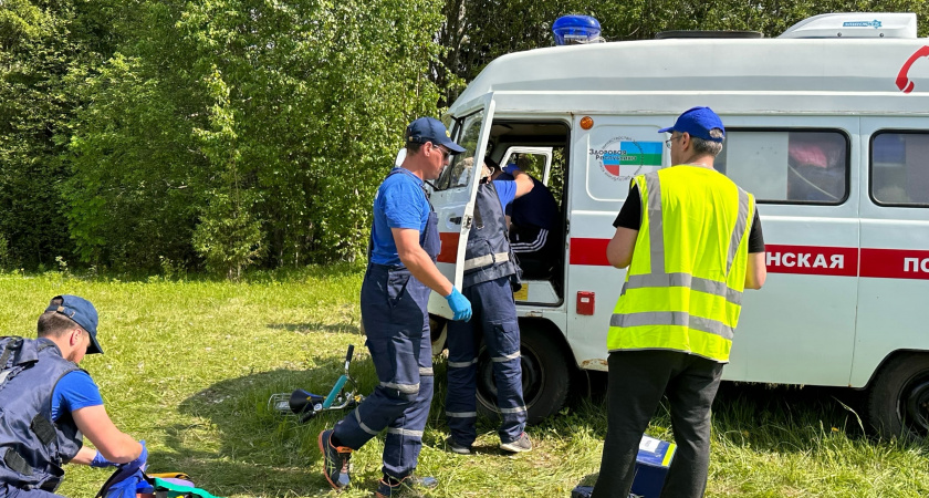
[(848, 138), (839, 132), (728, 129), (716, 167), (760, 203), (842, 204)]

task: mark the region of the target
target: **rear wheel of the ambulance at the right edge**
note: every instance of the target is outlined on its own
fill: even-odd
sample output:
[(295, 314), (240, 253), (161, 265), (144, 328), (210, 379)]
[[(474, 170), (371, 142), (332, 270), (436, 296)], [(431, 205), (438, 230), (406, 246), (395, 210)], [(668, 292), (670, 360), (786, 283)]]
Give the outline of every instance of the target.
[(929, 435), (929, 355), (904, 354), (880, 370), (868, 390), (868, 419), (886, 439)]

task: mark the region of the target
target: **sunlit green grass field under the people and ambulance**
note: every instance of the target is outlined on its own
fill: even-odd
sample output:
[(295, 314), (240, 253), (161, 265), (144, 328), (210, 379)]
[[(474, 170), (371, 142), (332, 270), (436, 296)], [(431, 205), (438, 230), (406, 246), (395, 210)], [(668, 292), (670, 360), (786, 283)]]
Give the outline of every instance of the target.
[[(34, 336), (49, 299), (75, 293), (101, 313), (106, 354), (82, 363), (125, 432), (147, 440), (152, 471), (182, 470), (223, 497), (336, 496), (320, 473), (316, 434), (342, 413), (300, 425), (267, 409), (275, 392), (324, 392), (341, 373), (347, 344), (367, 394), (375, 384), (359, 335), (361, 268), (257, 273), (240, 283), (0, 274), (0, 328)], [(477, 455), (448, 452), (445, 364), (424, 438), (419, 474), (431, 497), (567, 497), (599, 466), (606, 414), (604, 377), (593, 397), (530, 427), (536, 449), (504, 456), (482, 421)], [(847, 406), (847, 407), (846, 407)], [(929, 445), (876, 443), (862, 435), (854, 396), (839, 391), (723, 384), (713, 414), (710, 497), (929, 496)], [(670, 439), (667, 414), (649, 434)], [(353, 486), (370, 496), (380, 438), (353, 457)], [(106, 470), (75, 466), (60, 492), (92, 497)]]

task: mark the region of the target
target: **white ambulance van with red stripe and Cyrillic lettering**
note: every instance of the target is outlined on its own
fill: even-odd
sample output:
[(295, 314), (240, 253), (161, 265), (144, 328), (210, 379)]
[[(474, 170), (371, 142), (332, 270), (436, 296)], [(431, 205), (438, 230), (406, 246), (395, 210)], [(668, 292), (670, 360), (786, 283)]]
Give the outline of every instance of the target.
[[(530, 173), (551, 176), (563, 216), (563, 258), (516, 294), (531, 419), (562, 406), (573, 371), (606, 370), (625, 279), (605, 256), (613, 220), (634, 175), (670, 166), (657, 131), (697, 105), (726, 124), (717, 169), (758, 198), (768, 252), (723, 378), (868, 388), (884, 434), (925, 434), (929, 39), (916, 38), (915, 14), (887, 13), (821, 15), (776, 39), (537, 49), (471, 82), (446, 116), (469, 152), (431, 195), (440, 270), (460, 286), (478, 185), (464, 157), (539, 155)], [(437, 333), (445, 300), (432, 295), (430, 313)]]

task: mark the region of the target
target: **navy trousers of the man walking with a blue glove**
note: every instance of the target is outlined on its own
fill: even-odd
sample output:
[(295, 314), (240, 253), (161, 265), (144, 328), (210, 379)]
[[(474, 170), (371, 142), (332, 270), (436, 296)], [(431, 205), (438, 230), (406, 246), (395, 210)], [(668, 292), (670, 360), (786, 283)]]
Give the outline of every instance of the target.
[(362, 321), (380, 384), (333, 430), (341, 445), (358, 449), (386, 428), (383, 471), (396, 479), (416, 468), (432, 401), (429, 292), (406, 268), (368, 264)]

